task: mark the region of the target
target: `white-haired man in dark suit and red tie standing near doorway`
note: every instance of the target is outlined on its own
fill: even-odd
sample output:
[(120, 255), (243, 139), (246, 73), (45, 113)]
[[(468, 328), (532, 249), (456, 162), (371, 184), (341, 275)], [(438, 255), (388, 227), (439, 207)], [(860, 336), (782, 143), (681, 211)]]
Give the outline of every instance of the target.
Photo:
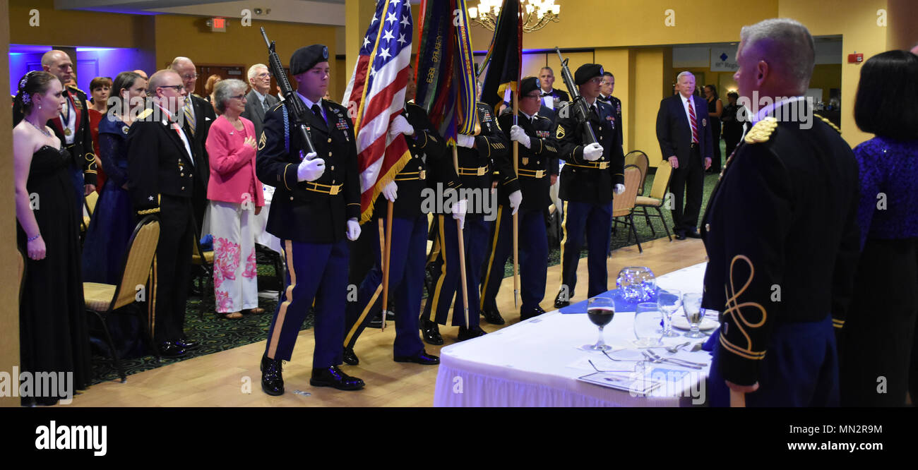
[[(708, 121), (708, 103), (695, 91), (695, 75), (679, 73), (678, 93), (663, 99), (656, 113), (656, 140), (666, 163), (672, 165), (669, 192), (673, 197), (673, 232), (677, 240), (686, 237), (700, 238), (698, 216), (701, 211), (701, 193), (704, 187), (704, 170), (711, 167), (713, 143), (711, 123)], [(685, 207), (682, 206), (685, 194)]]

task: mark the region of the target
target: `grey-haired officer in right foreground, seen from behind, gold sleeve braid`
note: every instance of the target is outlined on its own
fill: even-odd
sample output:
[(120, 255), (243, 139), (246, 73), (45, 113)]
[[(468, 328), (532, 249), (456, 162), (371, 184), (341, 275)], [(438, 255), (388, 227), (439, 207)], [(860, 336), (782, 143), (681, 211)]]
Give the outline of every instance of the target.
[(702, 307), (722, 312), (709, 397), (725, 405), (729, 387), (747, 406), (838, 406), (833, 326), (860, 248), (857, 163), (802, 96), (815, 55), (807, 28), (768, 19), (740, 38), (740, 95), (779, 101), (757, 111), (702, 219)]

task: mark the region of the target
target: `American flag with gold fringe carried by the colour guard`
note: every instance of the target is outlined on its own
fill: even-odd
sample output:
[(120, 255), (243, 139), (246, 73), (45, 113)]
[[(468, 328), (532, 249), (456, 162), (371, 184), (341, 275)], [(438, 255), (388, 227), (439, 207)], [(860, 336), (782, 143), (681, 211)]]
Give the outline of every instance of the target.
[(411, 158), (405, 138), (392, 139), (388, 133), (389, 123), (405, 105), (411, 33), (409, 0), (379, 0), (344, 91), (357, 132), (362, 223), (373, 215), (373, 203), (382, 188)]

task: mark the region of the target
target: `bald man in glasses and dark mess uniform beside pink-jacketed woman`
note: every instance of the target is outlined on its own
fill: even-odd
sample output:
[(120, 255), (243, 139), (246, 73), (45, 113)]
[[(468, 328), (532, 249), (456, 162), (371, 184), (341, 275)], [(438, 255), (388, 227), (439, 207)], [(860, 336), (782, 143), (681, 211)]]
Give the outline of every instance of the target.
[(128, 133), (129, 192), (140, 218), (160, 218), (148, 302), (153, 336), (164, 356), (182, 356), (195, 342), (185, 338), (185, 300), (195, 236), (191, 197), (197, 185), (193, 142), (178, 124), (185, 102), (182, 80), (172, 70), (153, 73), (147, 108)]

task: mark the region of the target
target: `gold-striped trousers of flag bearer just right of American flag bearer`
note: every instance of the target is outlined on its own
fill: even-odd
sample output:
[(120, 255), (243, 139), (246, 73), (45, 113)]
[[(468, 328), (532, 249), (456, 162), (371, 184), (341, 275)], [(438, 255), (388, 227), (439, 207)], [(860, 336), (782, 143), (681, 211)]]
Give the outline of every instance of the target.
[[(468, 325), (465, 325), (465, 307), (462, 292), (459, 291), (459, 245), (456, 220), (452, 216), (437, 216), (437, 240), (440, 255), (436, 263), (440, 275), (434, 281), (433, 295), (424, 304), (423, 318), (441, 325), (478, 326), (478, 284), (481, 265), (485, 261), (489, 223), (481, 216), (465, 218), (463, 237), (465, 241), (465, 288), (468, 292)], [(449, 321), (450, 305), (453, 306), (453, 320)]]

